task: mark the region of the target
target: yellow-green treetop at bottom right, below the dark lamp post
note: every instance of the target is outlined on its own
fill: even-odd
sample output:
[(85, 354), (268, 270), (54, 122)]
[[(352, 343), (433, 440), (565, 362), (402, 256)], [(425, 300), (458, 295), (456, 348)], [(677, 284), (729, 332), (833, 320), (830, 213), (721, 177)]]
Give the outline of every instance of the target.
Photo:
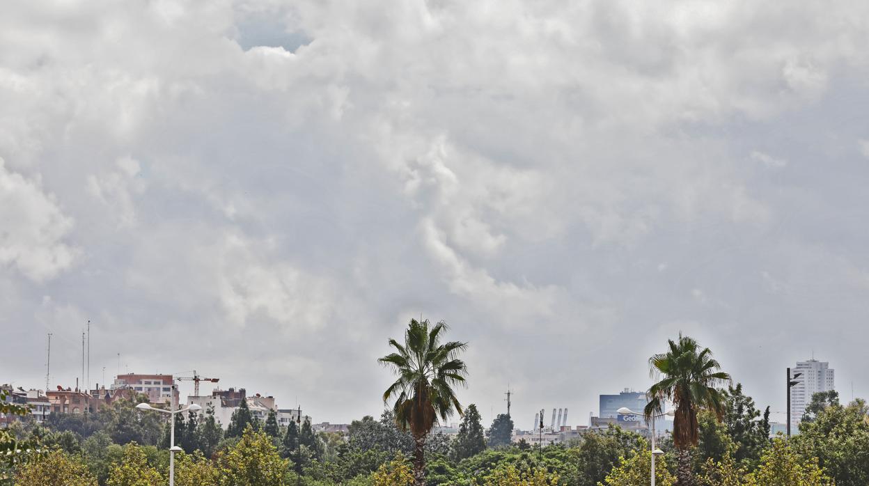
[[(773, 439), (760, 458), (760, 468), (746, 476), (747, 486), (826, 486), (835, 484), (818, 466), (817, 459), (804, 459), (785, 439)], [(866, 483), (861, 483), (866, 484)]]

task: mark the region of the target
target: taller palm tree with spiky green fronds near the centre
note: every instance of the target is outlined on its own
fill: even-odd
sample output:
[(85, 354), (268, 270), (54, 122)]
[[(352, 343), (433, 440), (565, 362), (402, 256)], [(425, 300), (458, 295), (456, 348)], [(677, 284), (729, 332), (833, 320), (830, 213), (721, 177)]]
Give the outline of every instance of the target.
[[(395, 339), (389, 345), (395, 352), (379, 361), (391, 367), (398, 379), (383, 392), (383, 403), (395, 398), (395, 424), (410, 429), (414, 436), (414, 484), (425, 485), (425, 445), (428, 432), (438, 420), (447, 420), (454, 412), (462, 415), (454, 387), (465, 383), (468, 368), (456, 356), (467, 343), (450, 341), (441, 344), (446, 323), (428, 329), (428, 320), (411, 319), (404, 331), (404, 344)], [(397, 397), (396, 397), (397, 396)]]

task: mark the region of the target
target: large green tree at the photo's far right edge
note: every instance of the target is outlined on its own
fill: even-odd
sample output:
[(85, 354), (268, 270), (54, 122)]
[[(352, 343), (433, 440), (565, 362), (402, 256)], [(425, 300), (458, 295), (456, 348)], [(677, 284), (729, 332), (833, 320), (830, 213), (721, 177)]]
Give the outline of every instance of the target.
[(819, 411), (813, 421), (799, 423), (791, 441), (804, 459), (818, 458), (821, 468), (839, 486), (869, 484), (869, 422), (866, 402), (838, 403)]

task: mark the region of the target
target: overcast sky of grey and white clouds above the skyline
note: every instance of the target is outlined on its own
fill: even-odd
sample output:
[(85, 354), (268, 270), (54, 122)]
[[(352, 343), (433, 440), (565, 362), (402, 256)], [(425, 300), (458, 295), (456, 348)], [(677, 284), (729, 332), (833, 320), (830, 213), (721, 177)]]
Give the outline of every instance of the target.
[[(684, 331), (869, 396), (869, 3), (55, 1), (0, 16), (3, 376), (378, 415), (411, 317), (532, 425)], [(118, 365), (120, 353), (120, 367)], [(191, 393), (184, 383), (182, 393)], [(548, 411), (547, 411), (548, 414)]]

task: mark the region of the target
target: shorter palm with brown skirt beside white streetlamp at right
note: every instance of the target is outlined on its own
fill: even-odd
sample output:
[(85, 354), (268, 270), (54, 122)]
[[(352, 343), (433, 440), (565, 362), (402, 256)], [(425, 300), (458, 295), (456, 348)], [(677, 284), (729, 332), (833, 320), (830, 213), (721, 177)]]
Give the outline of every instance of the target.
[(730, 375), (720, 371), (720, 364), (713, 359), (709, 348), (700, 349), (700, 344), (688, 336), (679, 334), (679, 341), (668, 340), (666, 353), (649, 358), (651, 376), (662, 376), (646, 392), (648, 404), (646, 419), (663, 411), (663, 404), (673, 403), (676, 408), (673, 419), (673, 445), (678, 449), (679, 468), (676, 476), (679, 486), (691, 486), (691, 447), (697, 445), (700, 431), (697, 412), (709, 409), (719, 420), (725, 412), (725, 393), (716, 385), (730, 382)]

